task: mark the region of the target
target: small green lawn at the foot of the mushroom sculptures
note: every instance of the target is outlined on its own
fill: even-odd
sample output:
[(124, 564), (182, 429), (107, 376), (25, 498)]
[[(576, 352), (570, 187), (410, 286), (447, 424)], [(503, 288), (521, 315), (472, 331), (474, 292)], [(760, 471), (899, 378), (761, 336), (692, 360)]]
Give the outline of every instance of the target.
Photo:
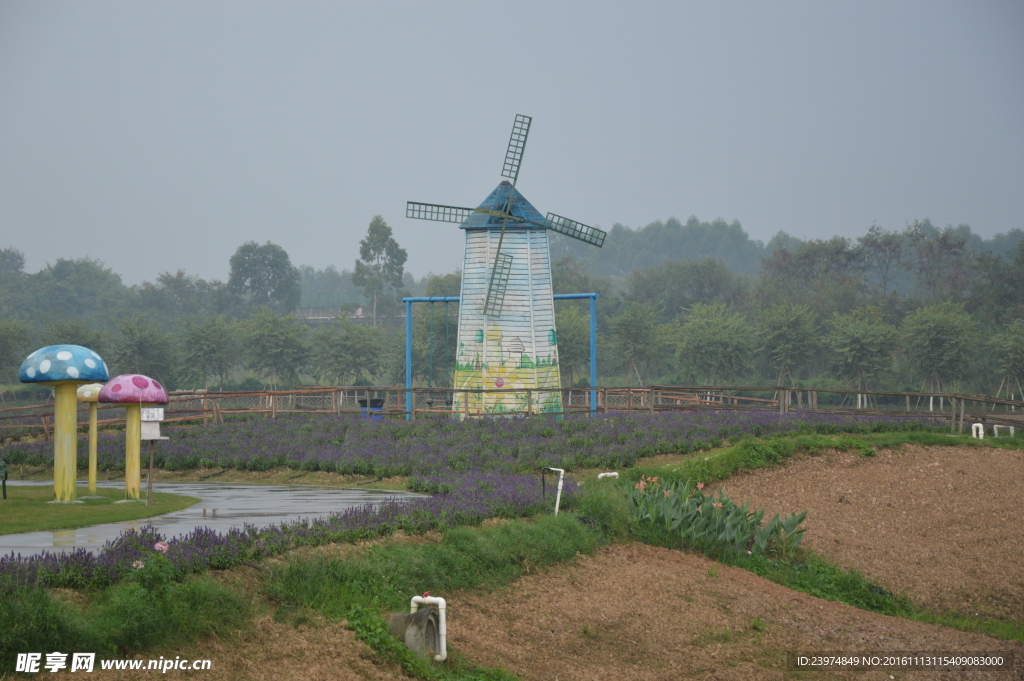
[[(88, 494), (78, 488), (80, 496)], [(7, 485), (7, 501), (0, 501), (0, 535), (70, 529), (104, 522), (135, 520), (188, 508), (200, 500), (163, 492), (153, 494), (153, 505), (115, 504), (124, 499), (123, 490), (99, 488), (102, 499), (86, 499), (81, 504), (47, 504), (53, 500), (50, 485)], [(143, 492), (144, 496), (144, 492)]]

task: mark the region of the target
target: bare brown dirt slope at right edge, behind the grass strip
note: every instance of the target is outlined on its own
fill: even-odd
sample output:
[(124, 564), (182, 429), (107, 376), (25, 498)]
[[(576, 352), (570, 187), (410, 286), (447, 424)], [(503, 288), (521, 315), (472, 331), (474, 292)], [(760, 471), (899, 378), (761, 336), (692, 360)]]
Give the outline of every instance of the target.
[(1024, 622), (1024, 452), (826, 452), (720, 486), (766, 517), (806, 509), (805, 546), (929, 610)]

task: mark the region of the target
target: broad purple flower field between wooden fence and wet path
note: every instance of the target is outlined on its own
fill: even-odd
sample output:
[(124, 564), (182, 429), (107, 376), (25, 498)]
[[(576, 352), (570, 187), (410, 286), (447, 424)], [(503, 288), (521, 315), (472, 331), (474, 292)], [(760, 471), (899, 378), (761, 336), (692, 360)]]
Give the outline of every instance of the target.
[[(780, 433), (883, 432), (940, 428), (932, 419), (774, 412), (669, 412), (657, 415), (455, 421), (371, 421), (331, 415), (252, 418), (224, 424), (165, 428), (156, 465), (167, 470), (233, 468), (392, 476), (493, 471), (531, 473), (542, 466), (624, 468), (638, 458), (699, 452), (743, 436)], [(80, 451), (86, 439), (79, 440)], [(11, 444), (8, 463), (45, 465), (52, 444)], [(124, 468), (124, 433), (99, 438), (99, 468)], [(85, 467), (79, 456), (79, 466)]]

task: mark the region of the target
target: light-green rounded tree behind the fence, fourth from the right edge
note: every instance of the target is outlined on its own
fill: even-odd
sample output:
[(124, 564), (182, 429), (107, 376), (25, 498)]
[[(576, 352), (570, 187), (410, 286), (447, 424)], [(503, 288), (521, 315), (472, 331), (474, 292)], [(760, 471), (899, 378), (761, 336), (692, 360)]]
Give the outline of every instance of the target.
[(816, 345), (814, 326), (814, 312), (806, 305), (781, 303), (758, 313), (757, 351), (778, 372), (776, 385), (783, 385), (786, 377), (795, 385), (794, 371), (804, 366)]

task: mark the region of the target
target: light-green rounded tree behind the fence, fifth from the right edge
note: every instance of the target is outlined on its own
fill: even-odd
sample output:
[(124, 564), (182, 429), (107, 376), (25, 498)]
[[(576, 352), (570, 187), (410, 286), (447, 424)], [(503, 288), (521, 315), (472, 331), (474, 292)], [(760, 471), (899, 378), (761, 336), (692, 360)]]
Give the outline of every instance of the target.
[(740, 378), (750, 366), (754, 345), (743, 317), (723, 303), (697, 303), (685, 316), (678, 353), (683, 380), (716, 385)]

